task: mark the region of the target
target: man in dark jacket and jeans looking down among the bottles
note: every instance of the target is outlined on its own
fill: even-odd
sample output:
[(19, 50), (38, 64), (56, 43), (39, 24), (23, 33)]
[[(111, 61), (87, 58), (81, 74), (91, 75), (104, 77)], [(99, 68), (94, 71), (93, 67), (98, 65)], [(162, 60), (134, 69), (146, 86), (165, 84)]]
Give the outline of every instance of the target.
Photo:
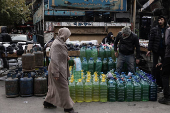
[[(120, 41), (120, 42), (119, 42)], [(117, 44), (119, 42), (119, 54), (117, 52)], [(116, 40), (114, 42), (114, 51), (115, 56), (118, 57), (116, 71), (120, 74), (123, 63), (127, 64), (128, 71), (135, 73), (135, 56), (134, 50), (136, 47), (136, 63), (139, 63), (140, 57), (140, 46), (139, 39), (136, 34), (132, 33), (130, 27), (122, 28), (122, 31), (118, 33), (116, 36)]]

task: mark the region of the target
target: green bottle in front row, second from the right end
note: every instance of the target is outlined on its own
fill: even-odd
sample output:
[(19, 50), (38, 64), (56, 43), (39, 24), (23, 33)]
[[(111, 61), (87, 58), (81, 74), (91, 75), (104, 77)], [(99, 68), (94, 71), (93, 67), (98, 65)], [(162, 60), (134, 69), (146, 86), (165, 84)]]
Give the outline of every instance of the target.
[(142, 82), (142, 101), (149, 101), (149, 84), (144, 79)]

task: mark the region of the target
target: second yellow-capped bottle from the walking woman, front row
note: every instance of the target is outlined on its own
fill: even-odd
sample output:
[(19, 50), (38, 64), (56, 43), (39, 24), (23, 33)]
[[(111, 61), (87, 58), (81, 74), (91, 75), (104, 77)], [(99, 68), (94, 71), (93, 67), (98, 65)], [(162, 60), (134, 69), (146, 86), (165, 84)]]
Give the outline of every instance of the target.
[(83, 82), (81, 79), (78, 80), (76, 85), (76, 101), (84, 102), (84, 89)]

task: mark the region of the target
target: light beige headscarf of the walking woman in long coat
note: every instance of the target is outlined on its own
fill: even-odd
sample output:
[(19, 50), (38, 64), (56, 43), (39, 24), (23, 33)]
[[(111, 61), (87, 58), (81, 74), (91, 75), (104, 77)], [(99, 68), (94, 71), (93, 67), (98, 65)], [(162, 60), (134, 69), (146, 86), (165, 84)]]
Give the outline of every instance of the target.
[(68, 28), (60, 28), (58, 30), (58, 37), (62, 39), (64, 42), (68, 39), (68, 37), (71, 35), (71, 32)]

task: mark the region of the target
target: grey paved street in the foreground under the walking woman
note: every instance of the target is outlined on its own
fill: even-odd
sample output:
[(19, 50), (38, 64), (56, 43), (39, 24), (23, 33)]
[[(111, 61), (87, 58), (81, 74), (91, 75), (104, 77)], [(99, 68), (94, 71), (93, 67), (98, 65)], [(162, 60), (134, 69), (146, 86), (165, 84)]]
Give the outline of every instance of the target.
[[(44, 97), (6, 98), (4, 81), (0, 81), (0, 113), (63, 113), (62, 108), (44, 109)], [(170, 105), (158, 102), (76, 103), (79, 113), (169, 113)]]

